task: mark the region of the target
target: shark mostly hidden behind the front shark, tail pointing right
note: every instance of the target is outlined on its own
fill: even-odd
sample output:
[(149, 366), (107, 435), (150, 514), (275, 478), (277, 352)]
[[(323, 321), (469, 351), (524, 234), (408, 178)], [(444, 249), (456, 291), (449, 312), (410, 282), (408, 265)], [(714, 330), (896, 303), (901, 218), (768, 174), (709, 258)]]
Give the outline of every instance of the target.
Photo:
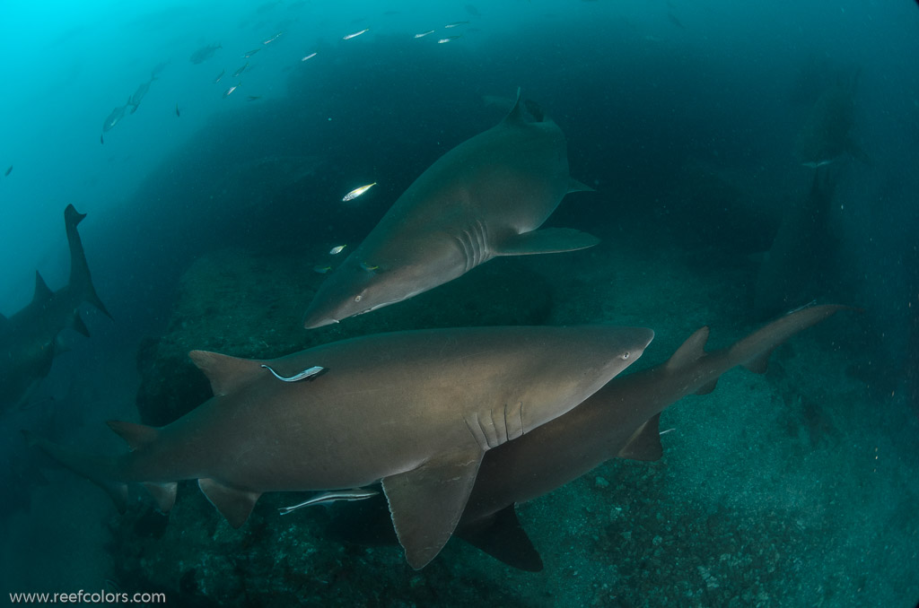
[[(517, 519), (517, 504), (560, 488), (612, 458), (659, 459), (661, 412), (687, 395), (711, 392), (719, 377), (735, 366), (765, 372), (778, 345), (845, 309), (849, 307), (818, 305), (796, 310), (709, 353), (709, 328), (702, 327), (664, 363), (614, 377), (573, 410), (489, 451), (455, 535), (517, 569), (541, 570), (539, 552)], [(379, 502), (372, 499), (339, 505), (329, 531), (350, 542), (390, 542), (379, 513)]]

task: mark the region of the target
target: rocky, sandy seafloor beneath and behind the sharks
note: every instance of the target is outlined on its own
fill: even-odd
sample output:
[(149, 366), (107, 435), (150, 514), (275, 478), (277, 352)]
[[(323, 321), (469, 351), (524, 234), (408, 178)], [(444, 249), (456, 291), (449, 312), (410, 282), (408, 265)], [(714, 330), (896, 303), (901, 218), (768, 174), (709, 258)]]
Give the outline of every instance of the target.
[[(191, 348), (274, 356), (408, 327), (607, 322), (654, 328), (641, 367), (701, 325), (712, 348), (756, 326), (753, 260), (675, 246), (665, 233), (598, 230), (594, 249), (497, 260), (315, 332), (298, 323), (323, 278), (303, 271), (312, 264), (209, 253), (187, 270), (168, 332), (142, 344), (141, 417), (163, 423), (207, 399)], [(545, 562), (538, 574), (457, 539), (414, 571), (397, 546), (335, 540), (334, 507), (278, 515), (301, 495), (264, 496), (234, 530), (184, 482), (168, 516), (139, 494), (108, 517), (111, 578), (187, 605), (907, 605), (919, 597), (905, 456), (916, 424), (902, 397), (852, 373), (858, 326), (856, 312), (840, 313), (777, 349), (766, 375), (733, 370), (665, 411), (661, 428), (674, 431), (659, 462), (609, 462), (521, 505)]]

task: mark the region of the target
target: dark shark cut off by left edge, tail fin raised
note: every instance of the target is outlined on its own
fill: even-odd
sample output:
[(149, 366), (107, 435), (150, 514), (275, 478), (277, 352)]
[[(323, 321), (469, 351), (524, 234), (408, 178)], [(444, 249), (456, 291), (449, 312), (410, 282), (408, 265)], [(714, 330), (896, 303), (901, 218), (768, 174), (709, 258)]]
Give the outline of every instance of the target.
[(41, 379), (51, 372), (51, 362), (62, 352), (58, 335), (74, 329), (89, 337), (89, 330), (80, 318), (80, 306), (88, 302), (109, 319), (102, 300), (96, 295), (83, 242), (76, 230), (85, 218), (73, 205), (63, 212), (67, 242), (70, 245), (70, 280), (65, 287), (51, 291), (40, 273), (35, 273), (35, 293), (32, 301), (7, 318), (0, 314), (0, 412), (22, 407), (28, 403)]

